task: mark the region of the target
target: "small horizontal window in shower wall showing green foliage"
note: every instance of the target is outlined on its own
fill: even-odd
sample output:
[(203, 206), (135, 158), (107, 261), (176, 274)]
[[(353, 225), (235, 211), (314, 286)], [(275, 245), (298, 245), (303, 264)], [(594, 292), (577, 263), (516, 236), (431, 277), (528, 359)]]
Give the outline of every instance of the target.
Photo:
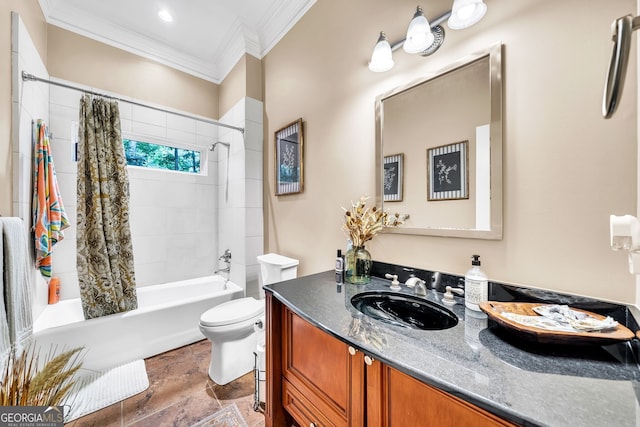
[(200, 151), (123, 139), (129, 166), (200, 173)]

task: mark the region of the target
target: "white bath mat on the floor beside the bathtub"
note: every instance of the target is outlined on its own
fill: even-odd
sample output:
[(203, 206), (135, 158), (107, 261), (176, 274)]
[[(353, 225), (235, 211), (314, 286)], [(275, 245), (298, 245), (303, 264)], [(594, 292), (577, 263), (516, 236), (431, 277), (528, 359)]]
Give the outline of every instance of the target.
[[(85, 371), (87, 372), (87, 371)], [(81, 374), (82, 387), (68, 400), (65, 422), (106, 408), (149, 387), (144, 360), (134, 360), (103, 372)]]

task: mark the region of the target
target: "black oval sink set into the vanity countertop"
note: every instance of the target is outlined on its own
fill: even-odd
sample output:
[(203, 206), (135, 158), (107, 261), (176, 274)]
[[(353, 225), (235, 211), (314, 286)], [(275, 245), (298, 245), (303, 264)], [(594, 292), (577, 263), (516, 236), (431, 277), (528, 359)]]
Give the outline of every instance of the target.
[(363, 292), (351, 298), (351, 305), (366, 316), (412, 329), (433, 331), (458, 324), (458, 317), (452, 311), (411, 295)]

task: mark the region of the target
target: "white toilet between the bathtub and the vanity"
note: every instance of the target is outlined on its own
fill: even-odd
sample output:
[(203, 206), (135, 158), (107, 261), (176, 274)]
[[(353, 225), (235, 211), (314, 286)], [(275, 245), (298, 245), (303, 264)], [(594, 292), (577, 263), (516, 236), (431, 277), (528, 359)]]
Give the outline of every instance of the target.
[[(264, 285), (295, 279), (297, 259), (274, 253), (258, 256), (260, 263), (260, 299), (246, 297), (219, 304), (200, 316), (200, 332), (211, 341), (209, 377), (219, 385), (227, 384), (254, 368), (257, 337), (256, 322), (264, 324)], [(264, 329), (260, 328), (264, 335)]]

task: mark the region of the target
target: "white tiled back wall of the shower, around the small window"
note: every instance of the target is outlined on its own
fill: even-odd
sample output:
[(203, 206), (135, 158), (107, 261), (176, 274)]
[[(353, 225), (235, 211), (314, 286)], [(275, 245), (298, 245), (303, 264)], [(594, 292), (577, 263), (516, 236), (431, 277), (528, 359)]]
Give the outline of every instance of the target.
[[(73, 123), (79, 120), (80, 96), (76, 90), (51, 86), (54, 161), (72, 224), (76, 218), (77, 178), (76, 163), (72, 160), (76, 137), (72, 134), (75, 134)], [(215, 266), (210, 260), (217, 252), (218, 165), (206, 147), (216, 141), (217, 127), (127, 102), (119, 104), (123, 137), (205, 147), (200, 175), (128, 168), (137, 285), (212, 274)], [(54, 274), (60, 277), (62, 298), (79, 296), (75, 238), (75, 226), (72, 226), (54, 252)]]

